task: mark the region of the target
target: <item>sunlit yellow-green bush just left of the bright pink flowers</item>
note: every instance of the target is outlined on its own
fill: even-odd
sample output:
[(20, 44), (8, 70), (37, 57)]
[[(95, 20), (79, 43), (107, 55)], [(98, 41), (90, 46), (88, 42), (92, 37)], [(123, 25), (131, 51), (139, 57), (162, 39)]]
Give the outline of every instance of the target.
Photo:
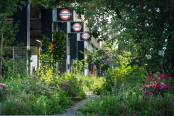
[(126, 84), (126, 87), (134, 87), (136, 83), (143, 82), (146, 79), (147, 72), (143, 67), (130, 66), (129, 58), (118, 56), (120, 61), (117, 62), (119, 65), (115, 68), (110, 68), (105, 73), (106, 78), (103, 84), (105, 91), (113, 92), (118, 90), (122, 84)]

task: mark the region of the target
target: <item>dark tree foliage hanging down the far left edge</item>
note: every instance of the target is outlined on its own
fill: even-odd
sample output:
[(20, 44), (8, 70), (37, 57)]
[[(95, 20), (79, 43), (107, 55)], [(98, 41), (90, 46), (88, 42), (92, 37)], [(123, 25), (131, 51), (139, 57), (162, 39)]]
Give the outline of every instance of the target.
[[(19, 73), (19, 70), (15, 70), (13, 66), (11, 66), (12, 62), (16, 63), (11, 57), (7, 57), (11, 55), (11, 48), (14, 41), (15, 33), (18, 31), (18, 23), (13, 24), (12, 21), (8, 21), (7, 18), (14, 15), (17, 10), (22, 10), (22, 7), (26, 3), (20, 0), (7, 0), (7, 1), (0, 1), (0, 41), (1, 41), (1, 50), (0, 50), (0, 72), (2, 71), (1, 63), (3, 66), (7, 68), (3, 69), (6, 73), (6, 78), (10, 77), (14, 74), (14, 72)], [(5, 57), (4, 57), (5, 56)], [(22, 63), (22, 62), (21, 62)], [(23, 65), (22, 65), (23, 66)], [(22, 67), (21, 66), (21, 67)], [(17, 66), (18, 67), (18, 66)], [(20, 68), (21, 68), (20, 67)], [(12, 73), (13, 71), (13, 73)], [(23, 70), (21, 70), (23, 72)], [(20, 73), (21, 74), (21, 73)], [(1, 77), (2, 75), (0, 75)], [(15, 75), (16, 76), (16, 75)], [(24, 76), (24, 74), (21, 74)]]

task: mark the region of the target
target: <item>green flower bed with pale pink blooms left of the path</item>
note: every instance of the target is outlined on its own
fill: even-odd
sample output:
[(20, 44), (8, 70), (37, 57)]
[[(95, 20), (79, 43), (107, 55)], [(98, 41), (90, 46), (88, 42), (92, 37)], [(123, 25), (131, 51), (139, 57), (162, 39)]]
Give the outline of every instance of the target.
[[(2, 100), (3, 115), (60, 114), (72, 105), (67, 92), (59, 89), (58, 83), (40, 80), (41, 77), (11, 78), (7, 98)], [(17, 105), (17, 106), (16, 106)]]

